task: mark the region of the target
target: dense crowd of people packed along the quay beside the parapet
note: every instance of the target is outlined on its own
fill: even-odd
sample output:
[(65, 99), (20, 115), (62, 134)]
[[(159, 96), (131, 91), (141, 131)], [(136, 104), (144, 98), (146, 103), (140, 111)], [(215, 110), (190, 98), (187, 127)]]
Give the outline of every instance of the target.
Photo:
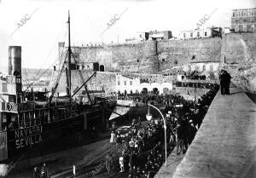
[[(184, 100), (180, 95), (145, 95), (130, 96), (135, 100), (154, 100), (165, 106), (167, 152), (177, 147), (177, 155), (185, 153), (193, 141), (196, 131), (200, 128), (202, 119), (207, 113), (214, 95), (218, 91), (218, 84), (201, 99), (195, 101)], [(153, 103), (151, 103), (153, 104)], [(143, 122), (144, 118), (132, 118), (127, 129), (119, 129), (113, 121), (110, 142), (119, 150), (119, 171), (128, 171), (128, 177), (154, 177), (165, 161), (164, 124), (163, 120), (155, 117), (150, 122)], [(112, 161), (106, 160), (106, 169), (111, 171)]]

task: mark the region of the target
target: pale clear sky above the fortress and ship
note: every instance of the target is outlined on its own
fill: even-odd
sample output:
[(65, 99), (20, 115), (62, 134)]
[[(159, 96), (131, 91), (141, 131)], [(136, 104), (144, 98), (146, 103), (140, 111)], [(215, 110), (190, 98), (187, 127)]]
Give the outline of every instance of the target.
[(81, 45), (124, 43), (151, 30), (177, 37), (195, 29), (205, 14), (212, 15), (204, 27), (230, 27), (232, 9), (255, 7), (255, 0), (0, 0), (0, 71), (7, 72), (11, 45), (21, 46), (22, 67), (53, 68), (58, 43), (67, 43), (68, 10), (71, 43)]

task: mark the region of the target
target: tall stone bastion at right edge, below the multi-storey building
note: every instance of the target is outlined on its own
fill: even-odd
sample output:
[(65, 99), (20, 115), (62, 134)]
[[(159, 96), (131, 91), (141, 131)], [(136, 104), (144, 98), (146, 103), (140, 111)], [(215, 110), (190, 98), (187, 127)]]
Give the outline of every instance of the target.
[(239, 88), (256, 92), (256, 33), (230, 33), (224, 37), (223, 68)]

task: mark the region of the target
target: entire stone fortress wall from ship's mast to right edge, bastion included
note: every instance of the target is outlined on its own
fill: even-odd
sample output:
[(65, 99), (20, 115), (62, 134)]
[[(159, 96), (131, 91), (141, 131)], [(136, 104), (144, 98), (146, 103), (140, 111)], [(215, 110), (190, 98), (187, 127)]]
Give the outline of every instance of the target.
[[(95, 88), (96, 86), (101, 86), (98, 88), (108, 86), (108, 89), (113, 89), (116, 72), (144, 73), (146, 75), (144, 78), (147, 78), (146, 73), (160, 75), (173, 66), (192, 63), (225, 62), (224, 66), (228, 68), (231, 68), (230, 64), (232, 63), (236, 64), (236, 66), (255, 63), (255, 40), (256, 33), (233, 33), (227, 34), (223, 38), (212, 37), (206, 39), (146, 41), (144, 43), (73, 47), (73, 53), (79, 59), (79, 65), (84, 68), (81, 71), (85, 80), (90, 77), (86, 66), (91, 69), (92, 63), (98, 62), (105, 68), (106, 72), (97, 72), (97, 80), (95, 79), (94, 83), (90, 82), (89, 88), (90, 86)], [(63, 47), (60, 47), (60, 51), (61, 48)], [(241, 75), (239, 70), (242, 73), (253, 73), (247, 71), (247, 69), (242, 68), (241, 70), (241, 67), (236, 67), (235, 70), (230, 71), (231, 75), (235, 73), (235, 78), (238, 76), (237, 73)], [(56, 73), (54, 72), (54, 78)], [(78, 72), (73, 71), (73, 73), (73, 81), (78, 80)], [(243, 77), (248, 78), (246, 75), (243, 75)], [(66, 84), (65, 78), (65, 75), (61, 77), (61, 83)], [(148, 75), (148, 78), (152, 78), (152, 75)], [(253, 78), (248, 78), (248, 80), (250, 83)]]

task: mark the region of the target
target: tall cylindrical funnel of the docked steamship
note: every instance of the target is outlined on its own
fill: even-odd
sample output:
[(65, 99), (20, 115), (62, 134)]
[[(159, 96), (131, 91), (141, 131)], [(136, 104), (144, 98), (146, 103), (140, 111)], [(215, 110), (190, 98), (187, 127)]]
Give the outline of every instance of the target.
[(9, 75), (21, 76), (21, 46), (9, 46)]

